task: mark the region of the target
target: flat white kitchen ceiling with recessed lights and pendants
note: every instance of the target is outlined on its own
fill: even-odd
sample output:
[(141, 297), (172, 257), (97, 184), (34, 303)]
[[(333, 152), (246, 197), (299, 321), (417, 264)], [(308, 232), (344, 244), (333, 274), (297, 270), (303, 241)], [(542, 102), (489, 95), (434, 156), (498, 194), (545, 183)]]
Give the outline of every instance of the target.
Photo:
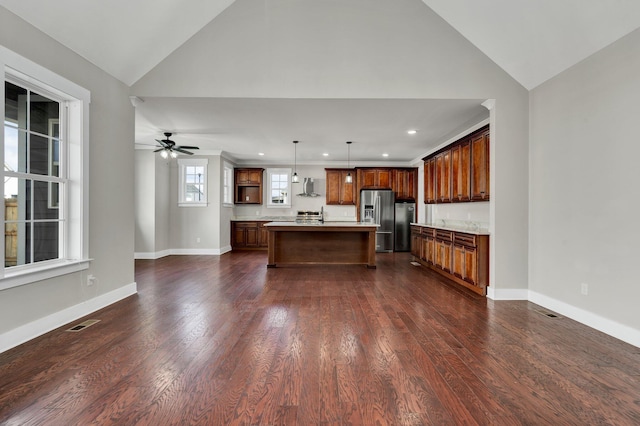
[[(136, 107), (136, 141), (154, 148), (154, 139), (161, 136), (155, 123), (165, 123), (163, 130), (174, 134), (176, 144), (199, 146), (199, 152), (213, 146), (242, 163), (293, 163), (293, 140), (299, 140), (300, 164), (346, 163), (346, 141), (353, 142), (352, 165), (407, 163), (427, 154), (434, 141), (487, 119), (489, 111), (481, 102), (148, 98)], [(417, 133), (409, 135), (409, 129)]]

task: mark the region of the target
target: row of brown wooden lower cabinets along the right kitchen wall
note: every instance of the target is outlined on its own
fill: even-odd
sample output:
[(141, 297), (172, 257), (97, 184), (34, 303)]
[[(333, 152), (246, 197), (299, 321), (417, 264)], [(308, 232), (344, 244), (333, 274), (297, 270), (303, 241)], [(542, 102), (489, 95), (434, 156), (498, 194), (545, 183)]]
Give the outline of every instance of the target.
[(411, 253), (416, 261), (478, 294), (486, 294), (489, 285), (488, 235), (416, 225), (411, 231)]

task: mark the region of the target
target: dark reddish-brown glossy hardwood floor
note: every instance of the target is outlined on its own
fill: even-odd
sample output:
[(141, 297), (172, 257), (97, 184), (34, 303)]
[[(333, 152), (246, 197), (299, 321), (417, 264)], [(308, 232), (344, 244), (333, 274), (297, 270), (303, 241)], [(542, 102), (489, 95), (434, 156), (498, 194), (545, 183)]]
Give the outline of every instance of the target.
[(137, 261), (99, 323), (0, 354), (0, 424), (640, 424), (640, 349), (377, 257)]

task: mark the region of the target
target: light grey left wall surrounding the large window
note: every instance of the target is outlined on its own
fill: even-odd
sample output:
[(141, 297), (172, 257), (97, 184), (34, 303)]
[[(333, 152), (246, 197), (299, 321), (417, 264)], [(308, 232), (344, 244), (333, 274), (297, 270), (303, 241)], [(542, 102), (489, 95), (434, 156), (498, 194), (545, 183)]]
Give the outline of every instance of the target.
[[(134, 114), (128, 87), (3, 7), (0, 44), (91, 91), (93, 261), (88, 271), (0, 291), (0, 342), (12, 346), (135, 291)], [(85, 285), (87, 273), (96, 285)]]

